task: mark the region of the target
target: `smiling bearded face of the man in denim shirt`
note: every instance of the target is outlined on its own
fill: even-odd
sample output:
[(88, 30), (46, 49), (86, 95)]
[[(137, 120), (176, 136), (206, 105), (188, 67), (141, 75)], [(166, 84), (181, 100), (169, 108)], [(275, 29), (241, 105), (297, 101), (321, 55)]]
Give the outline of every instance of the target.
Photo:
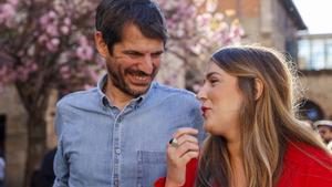
[(133, 97), (146, 93), (158, 72), (163, 52), (162, 40), (144, 37), (134, 24), (124, 27), (122, 41), (106, 56), (112, 85)]

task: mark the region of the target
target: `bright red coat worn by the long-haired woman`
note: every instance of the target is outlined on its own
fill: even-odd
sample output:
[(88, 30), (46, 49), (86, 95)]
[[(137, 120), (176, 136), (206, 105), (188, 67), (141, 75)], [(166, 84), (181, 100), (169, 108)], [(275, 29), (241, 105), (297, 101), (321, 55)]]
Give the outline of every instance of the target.
[[(186, 184), (194, 187), (197, 159), (187, 164)], [(155, 187), (164, 187), (159, 178)], [(303, 144), (290, 144), (283, 157), (283, 170), (277, 187), (332, 187), (332, 157), (323, 150)]]

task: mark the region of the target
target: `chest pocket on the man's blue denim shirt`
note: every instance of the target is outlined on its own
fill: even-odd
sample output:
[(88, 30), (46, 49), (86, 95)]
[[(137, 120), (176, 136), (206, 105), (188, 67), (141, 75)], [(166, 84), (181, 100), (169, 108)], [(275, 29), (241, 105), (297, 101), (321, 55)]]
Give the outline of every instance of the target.
[(137, 187), (153, 187), (159, 177), (166, 176), (165, 152), (137, 152)]

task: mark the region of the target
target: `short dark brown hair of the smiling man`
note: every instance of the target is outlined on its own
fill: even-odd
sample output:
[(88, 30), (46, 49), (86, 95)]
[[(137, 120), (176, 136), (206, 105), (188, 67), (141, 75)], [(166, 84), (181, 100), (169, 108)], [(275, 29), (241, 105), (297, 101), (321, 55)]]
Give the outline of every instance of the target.
[(162, 40), (166, 45), (165, 17), (152, 0), (103, 0), (98, 4), (95, 28), (102, 32), (111, 53), (114, 44), (122, 41), (123, 28), (127, 24), (136, 25), (144, 37)]

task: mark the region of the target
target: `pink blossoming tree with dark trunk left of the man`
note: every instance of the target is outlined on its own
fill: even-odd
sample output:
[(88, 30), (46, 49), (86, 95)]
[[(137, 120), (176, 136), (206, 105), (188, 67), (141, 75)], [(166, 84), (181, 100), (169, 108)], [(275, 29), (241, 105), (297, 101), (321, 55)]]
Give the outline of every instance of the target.
[(89, 0), (8, 0), (0, 3), (0, 90), (13, 84), (28, 113), (25, 186), (45, 153), (45, 111), (61, 93), (94, 84), (103, 63), (93, 46)]

